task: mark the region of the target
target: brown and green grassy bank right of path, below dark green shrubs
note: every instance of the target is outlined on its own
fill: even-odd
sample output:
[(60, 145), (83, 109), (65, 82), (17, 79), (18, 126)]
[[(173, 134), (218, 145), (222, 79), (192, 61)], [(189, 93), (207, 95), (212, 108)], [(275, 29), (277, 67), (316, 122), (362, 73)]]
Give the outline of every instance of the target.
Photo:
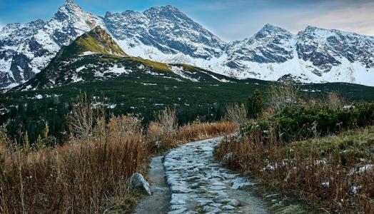
[(271, 190), (305, 200), (317, 213), (373, 213), (373, 127), (287, 145), (258, 139), (227, 139), (216, 156)]

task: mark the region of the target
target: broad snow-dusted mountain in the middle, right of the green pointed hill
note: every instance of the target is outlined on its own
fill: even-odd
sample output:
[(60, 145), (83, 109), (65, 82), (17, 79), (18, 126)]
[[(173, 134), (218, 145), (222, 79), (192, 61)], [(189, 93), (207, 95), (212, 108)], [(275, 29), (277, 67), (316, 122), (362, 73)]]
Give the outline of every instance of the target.
[(106, 13), (104, 23), (130, 55), (151, 58), (161, 52), (172, 57), (183, 54), (210, 60), (220, 56), (226, 46), (224, 41), (170, 5), (152, 7), (143, 13)]

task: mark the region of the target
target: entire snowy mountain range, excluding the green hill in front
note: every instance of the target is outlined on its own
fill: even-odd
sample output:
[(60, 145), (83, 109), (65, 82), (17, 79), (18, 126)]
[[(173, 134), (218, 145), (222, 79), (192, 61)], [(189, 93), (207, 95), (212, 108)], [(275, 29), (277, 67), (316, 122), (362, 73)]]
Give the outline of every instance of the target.
[[(143, 12), (107, 12), (101, 17), (84, 12), (68, 0), (49, 21), (38, 19), (1, 29), (0, 88), (11, 88), (33, 78), (58, 58), (56, 54), (64, 52), (61, 48), (66, 49), (63, 47), (96, 26), (108, 31), (113, 44), (120, 48), (117, 50), (123, 50), (114, 54), (104, 50), (111, 56), (124, 57), (126, 52), (126, 56), (152, 61), (188, 63), (230, 79), (374, 86), (373, 36), (311, 26), (294, 35), (266, 24), (243, 41), (227, 43), (173, 6), (152, 7)], [(71, 80), (79, 78), (74, 80), (71, 76)]]

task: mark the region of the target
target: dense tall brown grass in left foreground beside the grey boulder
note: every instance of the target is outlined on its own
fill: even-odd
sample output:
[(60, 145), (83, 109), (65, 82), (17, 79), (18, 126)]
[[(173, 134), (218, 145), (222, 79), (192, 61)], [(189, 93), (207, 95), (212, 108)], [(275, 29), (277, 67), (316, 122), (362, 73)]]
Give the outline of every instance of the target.
[(146, 149), (140, 132), (117, 131), (113, 117), (100, 136), (24, 153), (14, 146), (1, 173), (1, 213), (101, 213), (125, 181), (143, 172)]

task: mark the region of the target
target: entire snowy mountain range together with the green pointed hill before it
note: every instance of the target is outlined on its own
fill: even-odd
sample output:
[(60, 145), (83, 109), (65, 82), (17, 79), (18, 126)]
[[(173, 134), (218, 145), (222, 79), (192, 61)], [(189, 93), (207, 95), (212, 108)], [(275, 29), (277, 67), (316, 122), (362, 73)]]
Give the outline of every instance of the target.
[(49, 21), (8, 24), (0, 31), (0, 88), (30, 79), (16, 88), (119, 76), (374, 86), (374, 37), (312, 26), (290, 34), (266, 24), (243, 41), (226, 42), (173, 6), (101, 17), (71, 0)]

